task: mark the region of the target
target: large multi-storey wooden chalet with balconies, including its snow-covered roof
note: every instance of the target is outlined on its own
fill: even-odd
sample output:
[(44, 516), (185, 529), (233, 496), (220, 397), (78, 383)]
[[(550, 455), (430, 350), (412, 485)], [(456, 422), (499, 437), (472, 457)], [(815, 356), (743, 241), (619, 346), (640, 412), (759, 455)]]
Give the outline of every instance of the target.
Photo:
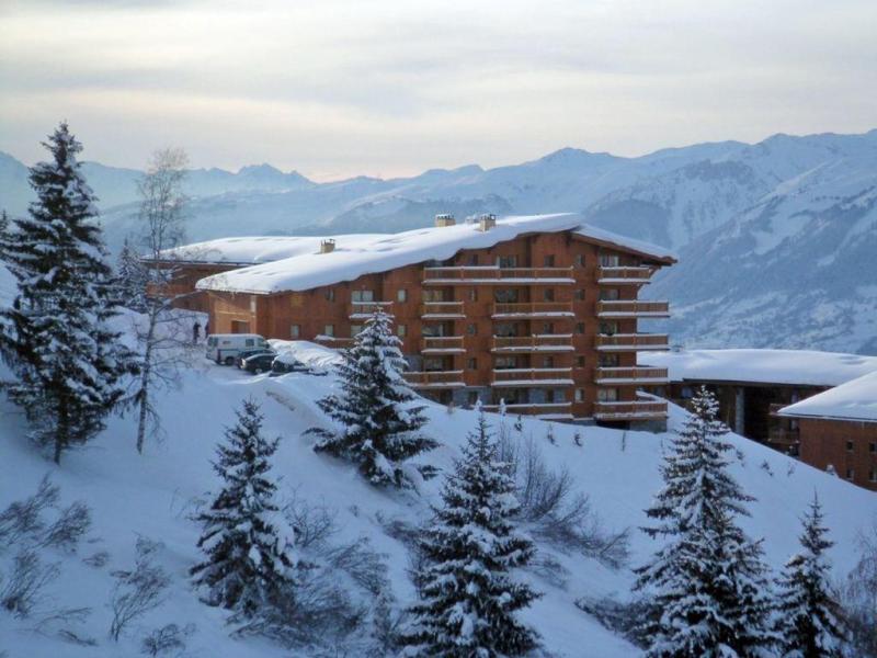
[[(285, 238), (295, 240), (295, 238)], [(278, 238), (278, 240), (282, 240)], [(395, 319), (421, 394), (510, 413), (605, 423), (665, 423), (667, 402), (638, 389), (667, 370), (637, 353), (667, 350), (638, 300), (667, 250), (572, 215), (514, 217), (396, 235), (337, 236), (306, 253), (201, 280), (210, 332), (345, 347), (375, 308)]]

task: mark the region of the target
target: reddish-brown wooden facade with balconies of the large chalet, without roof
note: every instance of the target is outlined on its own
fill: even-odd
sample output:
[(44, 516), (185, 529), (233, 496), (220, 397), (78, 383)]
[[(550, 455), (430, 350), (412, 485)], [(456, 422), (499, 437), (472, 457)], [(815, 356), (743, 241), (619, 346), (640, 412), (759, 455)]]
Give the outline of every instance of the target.
[[(436, 229), (442, 230), (442, 229)], [(665, 402), (637, 389), (667, 382), (637, 366), (637, 352), (668, 337), (638, 331), (667, 317), (665, 302), (639, 302), (670, 258), (656, 259), (573, 231), (519, 236), (489, 249), (330, 286), (249, 294), (207, 293), (210, 331), (253, 332), (344, 347), (376, 306), (395, 319), (408, 379), (445, 404), (602, 422), (662, 421)]]

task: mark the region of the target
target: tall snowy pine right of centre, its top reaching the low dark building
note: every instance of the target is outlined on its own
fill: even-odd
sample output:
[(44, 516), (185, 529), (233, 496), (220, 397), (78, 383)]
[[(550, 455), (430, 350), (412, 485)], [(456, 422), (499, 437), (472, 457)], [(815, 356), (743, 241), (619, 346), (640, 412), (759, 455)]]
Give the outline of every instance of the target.
[(692, 416), (661, 467), (664, 487), (646, 510), (643, 531), (665, 541), (651, 564), (637, 569), (637, 588), (652, 597), (648, 622), (652, 658), (771, 656), (771, 599), (758, 542), (736, 518), (753, 500), (728, 473), (731, 445), (718, 404), (702, 388)]

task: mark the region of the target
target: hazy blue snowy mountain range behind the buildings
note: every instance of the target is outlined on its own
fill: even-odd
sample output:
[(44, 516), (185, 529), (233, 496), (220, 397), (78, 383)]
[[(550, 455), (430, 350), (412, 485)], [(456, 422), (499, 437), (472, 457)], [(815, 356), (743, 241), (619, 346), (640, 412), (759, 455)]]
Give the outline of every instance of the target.
[[(86, 164), (107, 242), (134, 226), (139, 172)], [(0, 207), (30, 197), (26, 169), (0, 154)], [(699, 144), (638, 158), (562, 149), (485, 170), (316, 183), (262, 164), (189, 177), (193, 240), (241, 235), (398, 231), (437, 212), (577, 212), (677, 250), (648, 291), (669, 298), (673, 341), (877, 354), (877, 129)]]

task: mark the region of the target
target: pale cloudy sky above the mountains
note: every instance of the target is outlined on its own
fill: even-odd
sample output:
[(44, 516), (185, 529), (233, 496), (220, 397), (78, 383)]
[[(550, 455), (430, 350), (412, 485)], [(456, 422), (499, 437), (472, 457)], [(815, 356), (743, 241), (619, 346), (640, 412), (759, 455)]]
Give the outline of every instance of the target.
[(0, 0), (0, 150), (316, 180), (877, 127), (876, 0)]

